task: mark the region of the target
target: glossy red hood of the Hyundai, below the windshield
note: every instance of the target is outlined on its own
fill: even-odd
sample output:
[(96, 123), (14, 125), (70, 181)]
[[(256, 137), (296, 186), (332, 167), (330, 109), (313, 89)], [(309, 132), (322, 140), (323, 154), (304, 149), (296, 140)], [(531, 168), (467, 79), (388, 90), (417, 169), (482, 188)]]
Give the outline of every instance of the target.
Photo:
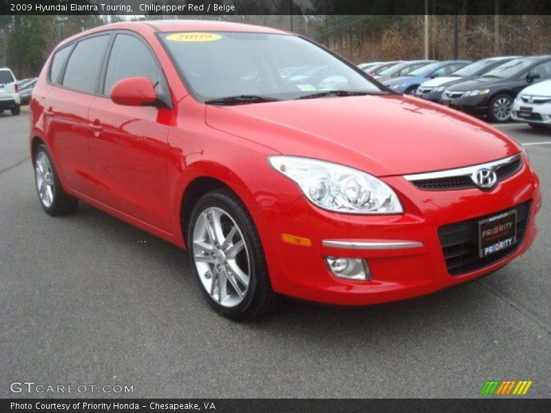
[(486, 123), (398, 95), (207, 105), (210, 127), (274, 153), (329, 160), (375, 176), (476, 165), (519, 152)]

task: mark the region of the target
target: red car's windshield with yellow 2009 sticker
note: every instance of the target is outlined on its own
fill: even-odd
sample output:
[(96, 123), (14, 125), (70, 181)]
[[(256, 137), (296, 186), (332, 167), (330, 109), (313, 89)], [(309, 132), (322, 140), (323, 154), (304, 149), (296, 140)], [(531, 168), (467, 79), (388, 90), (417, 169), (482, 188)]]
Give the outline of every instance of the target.
[(182, 32), (163, 33), (160, 39), (203, 102), (243, 95), (295, 99), (327, 90), (385, 93), (366, 75), (298, 36)]

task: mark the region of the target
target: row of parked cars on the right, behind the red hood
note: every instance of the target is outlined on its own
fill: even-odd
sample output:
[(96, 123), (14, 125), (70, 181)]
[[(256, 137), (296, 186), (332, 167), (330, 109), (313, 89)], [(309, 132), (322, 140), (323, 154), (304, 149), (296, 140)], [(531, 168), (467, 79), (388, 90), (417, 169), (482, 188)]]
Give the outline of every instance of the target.
[(399, 93), (441, 103), (490, 121), (551, 126), (551, 56), (479, 61), (391, 61), (358, 65)]

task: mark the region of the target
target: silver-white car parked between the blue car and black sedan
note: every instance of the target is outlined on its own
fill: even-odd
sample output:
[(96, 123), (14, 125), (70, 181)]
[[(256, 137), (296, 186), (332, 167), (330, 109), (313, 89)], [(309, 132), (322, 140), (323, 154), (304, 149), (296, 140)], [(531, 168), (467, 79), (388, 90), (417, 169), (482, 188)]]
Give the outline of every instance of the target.
[(430, 81), (422, 83), (422, 85), (417, 88), (417, 97), (424, 98), (432, 102), (439, 102), (446, 87), (477, 78), (486, 72), (489, 72), (494, 67), (502, 65), (508, 61), (512, 61), (512, 59), (518, 59), (519, 57), (521, 56), (489, 57), (488, 59), (481, 59), (479, 61), (472, 62), (470, 65), (461, 67), (461, 69), (456, 70), (449, 76), (430, 79)]

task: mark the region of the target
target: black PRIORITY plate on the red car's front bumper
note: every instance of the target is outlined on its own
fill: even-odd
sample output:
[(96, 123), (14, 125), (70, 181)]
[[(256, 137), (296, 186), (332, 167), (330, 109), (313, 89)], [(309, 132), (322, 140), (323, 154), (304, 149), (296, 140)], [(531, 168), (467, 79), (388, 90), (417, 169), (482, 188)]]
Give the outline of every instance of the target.
[(479, 257), (499, 253), (517, 244), (517, 210), (512, 209), (478, 222)]

